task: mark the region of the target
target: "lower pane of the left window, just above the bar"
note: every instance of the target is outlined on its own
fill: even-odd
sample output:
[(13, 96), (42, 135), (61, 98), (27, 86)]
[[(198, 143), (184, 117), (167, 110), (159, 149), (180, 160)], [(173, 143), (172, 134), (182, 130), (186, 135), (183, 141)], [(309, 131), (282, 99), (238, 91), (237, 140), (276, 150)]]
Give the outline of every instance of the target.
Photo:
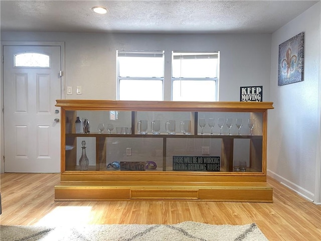
[(163, 100), (162, 80), (119, 80), (120, 100)]

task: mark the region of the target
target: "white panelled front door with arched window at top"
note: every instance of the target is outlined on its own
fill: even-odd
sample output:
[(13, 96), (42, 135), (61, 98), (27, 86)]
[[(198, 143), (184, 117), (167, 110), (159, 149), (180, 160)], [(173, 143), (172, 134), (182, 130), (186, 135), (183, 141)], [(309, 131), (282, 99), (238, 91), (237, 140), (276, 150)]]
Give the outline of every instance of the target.
[(60, 172), (60, 46), (4, 46), (5, 172)]

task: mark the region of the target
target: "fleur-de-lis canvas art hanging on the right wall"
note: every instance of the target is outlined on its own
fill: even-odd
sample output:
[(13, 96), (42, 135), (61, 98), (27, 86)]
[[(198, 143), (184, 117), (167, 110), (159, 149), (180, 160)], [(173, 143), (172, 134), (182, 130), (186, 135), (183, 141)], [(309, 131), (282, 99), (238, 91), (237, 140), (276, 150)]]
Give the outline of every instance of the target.
[(303, 81), (304, 32), (279, 45), (278, 85)]

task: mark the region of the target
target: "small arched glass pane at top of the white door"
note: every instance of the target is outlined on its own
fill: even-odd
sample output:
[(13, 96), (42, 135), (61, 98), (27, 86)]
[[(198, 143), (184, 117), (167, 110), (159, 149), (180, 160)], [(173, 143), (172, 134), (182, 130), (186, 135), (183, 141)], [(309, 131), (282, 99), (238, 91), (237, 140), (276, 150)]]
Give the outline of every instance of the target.
[(50, 56), (39, 53), (22, 53), (15, 55), (15, 67), (50, 67)]

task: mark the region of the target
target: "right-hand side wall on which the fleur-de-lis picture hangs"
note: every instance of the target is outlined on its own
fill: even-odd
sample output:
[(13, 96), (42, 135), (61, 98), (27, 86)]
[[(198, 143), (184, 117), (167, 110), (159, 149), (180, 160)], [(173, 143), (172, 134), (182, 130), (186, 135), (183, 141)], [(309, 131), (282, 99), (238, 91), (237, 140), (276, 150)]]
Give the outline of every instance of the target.
[[(278, 46), (304, 32), (304, 81), (278, 86)], [(268, 175), (321, 203), (320, 3), (272, 34), (268, 114)]]

